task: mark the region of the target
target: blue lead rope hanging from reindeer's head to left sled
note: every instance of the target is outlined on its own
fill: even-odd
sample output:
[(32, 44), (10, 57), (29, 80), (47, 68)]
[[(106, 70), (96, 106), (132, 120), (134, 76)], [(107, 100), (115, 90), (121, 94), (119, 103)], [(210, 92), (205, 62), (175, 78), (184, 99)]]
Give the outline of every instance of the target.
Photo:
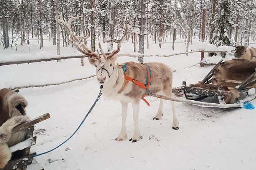
[(68, 140), (70, 140), (72, 138), (72, 136), (75, 135), (75, 133), (79, 130), (79, 128), (82, 126), (82, 124), (84, 123), (85, 119), (87, 118), (87, 116), (90, 114), (90, 112), (92, 112), (92, 109), (94, 109), (96, 103), (98, 102), (98, 100), (100, 99), (100, 96), (102, 95), (101, 91), (102, 91), (102, 88), (103, 88), (103, 85), (100, 85), (100, 93), (98, 94), (94, 104), (92, 105), (92, 107), (90, 108), (90, 110), (88, 111), (88, 113), (85, 115), (84, 119), (82, 120), (82, 122), (80, 123), (80, 125), (78, 126), (78, 128), (75, 130), (75, 132), (69, 137), (67, 138), (66, 141), (62, 142), (61, 144), (59, 144), (58, 146), (56, 146), (55, 148), (47, 151), (47, 152), (43, 152), (41, 154), (36, 154), (34, 157), (37, 157), (37, 156), (40, 156), (40, 155), (44, 155), (44, 154), (47, 154), (51, 151), (54, 151), (55, 149), (59, 148), (62, 144), (66, 143)]

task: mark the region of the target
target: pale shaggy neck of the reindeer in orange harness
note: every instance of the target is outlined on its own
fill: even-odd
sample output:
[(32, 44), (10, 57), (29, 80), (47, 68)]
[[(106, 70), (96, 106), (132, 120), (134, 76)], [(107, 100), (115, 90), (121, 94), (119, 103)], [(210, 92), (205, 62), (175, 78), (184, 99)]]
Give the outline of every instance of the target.
[(109, 78), (108, 82), (103, 86), (102, 93), (106, 97), (116, 95), (124, 81), (123, 69), (120, 66), (115, 65), (113, 74)]

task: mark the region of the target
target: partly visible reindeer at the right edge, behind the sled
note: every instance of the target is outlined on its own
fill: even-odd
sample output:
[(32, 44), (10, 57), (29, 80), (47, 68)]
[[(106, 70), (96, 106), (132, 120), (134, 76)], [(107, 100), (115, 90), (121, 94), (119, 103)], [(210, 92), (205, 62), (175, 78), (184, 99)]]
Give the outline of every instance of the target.
[[(239, 46), (233, 46), (235, 47), (235, 58), (243, 58), (243, 59), (250, 59), (253, 61), (256, 61), (256, 48), (248, 48), (248, 45), (245, 46), (239, 45)], [(248, 48), (248, 49), (247, 49)]]

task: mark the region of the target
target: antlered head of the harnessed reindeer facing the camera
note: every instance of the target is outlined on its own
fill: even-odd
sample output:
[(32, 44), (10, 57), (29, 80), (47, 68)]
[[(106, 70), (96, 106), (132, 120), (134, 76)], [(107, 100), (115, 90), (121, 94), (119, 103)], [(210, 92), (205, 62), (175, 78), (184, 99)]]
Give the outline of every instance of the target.
[(123, 36), (120, 40), (116, 40), (112, 37), (111, 40), (104, 39), (105, 42), (115, 42), (117, 43), (117, 50), (112, 51), (109, 54), (104, 53), (102, 50), (102, 47), (100, 43), (98, 43), (98, 46), (100, 48), (100, 54), (96, 54), (92, 50), (90, 50), (86, 45), (83, 43), (83, 40), (88, 38), (87, 37), (76, 37), (74, 33), (71, 31), (71, 22), (75, 19), (79, 19), (80, 17), (72, 17), (69, 19), (69, 21), (66, 23), (62, 19), (61, 14), (56, 15), (56, 21), (59, 22), (62, 26), (64, 26), (67, 29), (67, 32), (70, 35), (70, 38), (67, 37), (67, 40), (74, 45), (75, 48), (77, 48), (78, 51), (85, 54), (89, 58), (89, 63), (92, 66), (95, 66), (96, 68), (96, 74), (97, 74), (97, 80), (101, 85), (104, 85), (106, 82), (108, 82), (108, 79), (111, 77), (114, 71), (114, 65), (115, 61), (117, 60), (117, 53), (120, 51), (121, 48), (121, 42), (125, 35), (127, 34), (128, 25), (125, 27), (125, 31), (123, 33)]

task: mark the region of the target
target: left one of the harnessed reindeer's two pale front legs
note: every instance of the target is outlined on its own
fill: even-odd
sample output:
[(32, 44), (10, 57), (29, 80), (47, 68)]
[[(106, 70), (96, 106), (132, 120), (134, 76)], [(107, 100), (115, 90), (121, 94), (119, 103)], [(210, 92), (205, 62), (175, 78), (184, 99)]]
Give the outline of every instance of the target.
[(116, 141), (123, 141), (127, 138), (125, 122), (126, 122), (126, 116), (127, 116), (128, 103), (121, 101), (121, 106), (122, 106), (122, 128), (121, 128), (120, 134), (117, 136), (117, 138), (115, 138)]

